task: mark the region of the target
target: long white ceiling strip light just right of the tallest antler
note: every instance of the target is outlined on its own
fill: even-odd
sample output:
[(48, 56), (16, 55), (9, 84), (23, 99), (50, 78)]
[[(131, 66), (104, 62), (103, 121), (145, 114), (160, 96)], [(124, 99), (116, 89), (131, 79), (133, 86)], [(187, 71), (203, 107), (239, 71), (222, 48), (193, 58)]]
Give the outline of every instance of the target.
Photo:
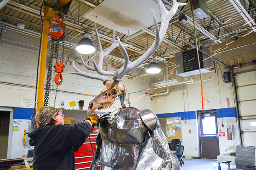
[[(165, 3), (167, 3), (168, 5), (172, 6), (172, 4), (170, 2), (168, 2), (167, 0), (163, 0)], [(168, 7), (168, 6), (167, 6)], [(168, 7), (170, 9), (170, 7)], [(177, 10), (177, 13), (179, 15), (185, 15), (182, 11), (180, 11), (179, 9)], [(192, 26), (193, 26), (193, 20), (185, 15), (187, 17), (187, 21), (188, 23), (190, 23)], [(213, 35), (211, 35), (210, 32), (206, 31), (206, 29), (204, 29), (203, 27), (201, 27), (198, 23), (195, 22), (195, 27), (200, 31), (202, 32), (203, 34), (205, 34), (207, 37), (209, 37), (211, 40), (213, 40), (214, 42), (216, 43), (221, 43), (220, 40), (218, 40), (216, 37), (214, 37)]]

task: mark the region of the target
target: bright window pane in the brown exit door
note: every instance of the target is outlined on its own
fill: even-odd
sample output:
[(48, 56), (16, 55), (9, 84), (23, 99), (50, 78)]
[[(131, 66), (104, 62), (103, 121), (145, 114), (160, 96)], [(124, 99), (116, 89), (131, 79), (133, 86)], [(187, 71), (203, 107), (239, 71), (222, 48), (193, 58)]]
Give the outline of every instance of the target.
[(214, 116), (207, 116), (202, 120), (203, 134), (216, 134), (216, 122)]

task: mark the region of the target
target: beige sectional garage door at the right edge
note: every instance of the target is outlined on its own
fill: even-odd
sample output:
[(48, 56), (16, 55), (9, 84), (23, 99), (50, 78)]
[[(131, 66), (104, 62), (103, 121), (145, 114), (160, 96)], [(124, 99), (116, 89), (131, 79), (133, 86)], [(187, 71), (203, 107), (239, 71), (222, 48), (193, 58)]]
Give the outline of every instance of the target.
[(243, 144), (256, 146), (256, 71), (236, 74)]

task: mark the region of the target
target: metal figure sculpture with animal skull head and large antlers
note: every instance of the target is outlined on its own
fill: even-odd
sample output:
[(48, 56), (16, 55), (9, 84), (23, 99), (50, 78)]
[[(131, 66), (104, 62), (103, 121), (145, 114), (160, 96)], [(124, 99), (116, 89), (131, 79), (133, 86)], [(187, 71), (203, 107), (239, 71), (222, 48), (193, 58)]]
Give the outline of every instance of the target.
[[(175, 155), (170, 153), (167, 140), (160, 128), (160, 123), (155, 113), (149, 109), (139, 110), (135, 107), (126, 108), (124, 105), (126, 88), (124, 84), (119, 82), (122, 81), (124, 75), (137, 68), (154, 54), (164, 39), (169, 21), (175, 15), (178, 6), (186, 4), (187, 3), (178, 3), (176, 0), (173, 0), (172, 9), (167, 11), (162, 1), (157, 0), (157, 5), (160, 8), (162, 17), (161, 27), (159, 29), (155, 13), (152, 10), (155, 24), (155, 40), (147, 52), (134, 62), (129, 63), (128, 54), (119, 37), (117, 37), (118, 44), (116, 44), (115, 29), (113, 31), (111, 46), (103, 51), (96, 25), (95, 32), (99, 51), (99, 63), (96, 64), (93, 58), (94, 67), (84, 63), (83, 58), (82, 62), (88, 70), (97, 71), (99, 74), (80, 71), (73, 62), (73, 67), (76, 72), (72, 72), (71, 74), (98, 79), (103, 81), (103, 84), (106, 85), (106, 89), (89, 103), (87, 114), (91, 114), (96, 109), (100, 110), (111, 107), (115, 103), (117, 96), (121, 98), (122, 104), (122, 107), (115, 112), (106, 112), (100, 118), (99, 134), (96, 139), (98, 147), (90, 169), (96, 169), (100, 161), (102, 170), (135, 170), (150, 136), (152, 137), (152, 147), (155, 153), (163, 159), (159, 170), (180, 169), (178, 159), (175, 158)], [(117, 71), (102, 70), (103, 58), (116, 47), (121, 49), (122, 55), (124, 56), (124, 65)], [(106, 77), (107, 75), (113, 76), (114, 81), (112, 83), (110, 79)]]

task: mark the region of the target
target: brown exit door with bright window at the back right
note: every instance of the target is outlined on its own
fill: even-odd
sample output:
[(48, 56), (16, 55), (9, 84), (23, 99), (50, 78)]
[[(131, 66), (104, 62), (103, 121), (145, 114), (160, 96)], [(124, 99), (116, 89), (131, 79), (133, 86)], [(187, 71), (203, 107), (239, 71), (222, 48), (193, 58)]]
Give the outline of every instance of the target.
[(199, 131), (201, 138), (201, 157), (217, 159), (220, 155), (216, 110), (206, 110), (205, 118), (198, 111)]

